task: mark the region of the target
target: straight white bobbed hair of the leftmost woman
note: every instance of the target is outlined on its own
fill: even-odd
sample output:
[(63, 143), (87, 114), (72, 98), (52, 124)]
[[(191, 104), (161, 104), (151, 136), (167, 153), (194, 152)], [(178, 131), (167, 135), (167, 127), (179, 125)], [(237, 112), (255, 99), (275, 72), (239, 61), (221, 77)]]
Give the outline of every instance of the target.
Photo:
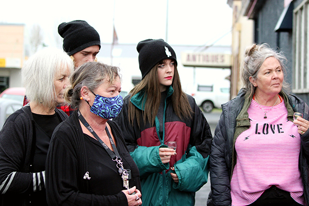
[(74, 65), (63, 50), (45, 48), (30, 56), (21, 68), (27, 99), (44, 106), (54, 106), (57, 98), (54, 80), (57, 74), (67, 69), (72, 72)]

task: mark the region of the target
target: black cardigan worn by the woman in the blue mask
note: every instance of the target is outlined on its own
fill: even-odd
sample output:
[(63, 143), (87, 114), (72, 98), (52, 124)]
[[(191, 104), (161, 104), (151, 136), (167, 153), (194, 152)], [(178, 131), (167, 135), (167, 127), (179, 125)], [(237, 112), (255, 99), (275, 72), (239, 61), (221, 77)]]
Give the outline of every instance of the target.
[[(118, 125), (113, 121), (107, 121), (117, 142), (120, 155), (131, 158), (123, 140)], [(104, 150), (102, 148), (102, 150)], [(122, 156), (123, 157), (123, 156)], [(89, 189), (89, 181), (83, 176), (89, 171), (88, 156), (86, 151), (85, 136), (79, 123), (77, 111), (59, 124), (51, 138), (51, 146), (46, 162), (46, 190), (49, 206), (126, 206), (127, 198), (121, 190), (114, 195), (104, 196), (92, 194)], [(131, 167), (136, 167), (130, 187), (136, 186), (141, 190), (139, 172), (132, 159)], [(102, 171), (104, 172), (104, 171)], [(89, 171), (91, 177), (91, 171)], [(118, 175), (118, 174), (117, 174)], [(119, 176), (119, 178), (121, 178)], [(102, 187), (113, 187), (104, 185)], [(115, 186), (116, 187), (116, 186)], [(119, 187), (119, 186), (118, 186)], [(122, 187), (122, 186), (121, 186)]]

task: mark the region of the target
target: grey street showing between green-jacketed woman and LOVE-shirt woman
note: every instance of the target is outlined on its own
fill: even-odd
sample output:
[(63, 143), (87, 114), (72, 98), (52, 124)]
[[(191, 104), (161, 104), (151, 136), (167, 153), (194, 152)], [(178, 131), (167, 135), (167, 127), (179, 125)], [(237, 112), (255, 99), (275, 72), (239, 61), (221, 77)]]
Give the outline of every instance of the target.
[[(219, 121), (221, 111), (214, 110), (211, 113), (204, 113), (207, 122), (211, 129), (212, 136), (214, 135), (215, 127)], [(208, 176), (208, 182), (204, 185), (195, 195), (195, 206), (206, 206), (208, 194), (210, 192), (210, 178)]]

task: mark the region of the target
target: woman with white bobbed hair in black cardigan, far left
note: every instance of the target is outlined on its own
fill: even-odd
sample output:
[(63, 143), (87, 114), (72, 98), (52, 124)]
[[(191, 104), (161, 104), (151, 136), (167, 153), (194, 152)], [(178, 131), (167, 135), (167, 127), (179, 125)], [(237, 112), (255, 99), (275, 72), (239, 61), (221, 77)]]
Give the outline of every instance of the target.
[(10, 115), (0, 131), (0, 205), (47, 206), (45, 161), (55, 127), (67, 118), (56, 107), (74, 65), (62, 50), (47, 48), (21, 69), (30, 104)]

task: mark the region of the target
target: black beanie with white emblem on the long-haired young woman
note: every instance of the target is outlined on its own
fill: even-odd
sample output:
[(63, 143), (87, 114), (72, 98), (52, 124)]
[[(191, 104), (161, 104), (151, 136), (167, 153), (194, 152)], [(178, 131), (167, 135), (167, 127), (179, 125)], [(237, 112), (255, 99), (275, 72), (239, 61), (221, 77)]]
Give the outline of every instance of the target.
[(150, 70), (163, 59), (174, 59), (176, 65), (175, 51), (162, 39), (147, 39), (141, 41), (136, 47), (139, 52), (139, 64), (142, 72), (142, 79), (150, 72)]

